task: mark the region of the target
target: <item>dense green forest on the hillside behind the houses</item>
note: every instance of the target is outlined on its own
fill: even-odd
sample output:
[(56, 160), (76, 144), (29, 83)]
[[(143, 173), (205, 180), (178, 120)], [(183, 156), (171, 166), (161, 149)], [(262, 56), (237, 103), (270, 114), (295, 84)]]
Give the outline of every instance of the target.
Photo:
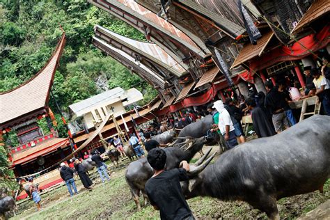
[[(68, 105), (116, 86), (135, 87), (145, 97), (140, 104), (150, 102), (157, 91), (93, 47), (95, 24), (144, 40), (139, 31), (86, 0), (0, 0), (0, 93), (22, 84), (45, 65), (61, 37), (61, 26), (67, 42), (52, 87), (61, 111), (67, 112)], [(60, 136), (67, 136), (52, 98), (49, 105), (58, 118)], [(47, 132), (45, 121), (40, 121), (40, 126)], [(6, 134), (5, 141), (15, 146), (15, 131)], [(6, 168), (5, 151), (0, 148), (0, 176), (6, 173), (2, 170)]]

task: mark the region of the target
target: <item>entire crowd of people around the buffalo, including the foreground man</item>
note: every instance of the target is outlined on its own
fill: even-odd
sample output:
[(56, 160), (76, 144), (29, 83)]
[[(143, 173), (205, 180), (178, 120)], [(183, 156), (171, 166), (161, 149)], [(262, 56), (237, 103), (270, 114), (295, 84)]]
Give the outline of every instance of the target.
[[(304, 94), (299, 99), (317, 95), (318, 100), (322, 102), (324, 113), (330, 116), (330, 68), (327, 67), (328, 63), (327, 58), (324, 58), (322, 68), (316, 69), (308, 66), (304, 68), (306, 86), (304, 87)], [(180, 188), (180, 180), (187, 180), (188, 178), (189, 164), (182, 162), (181, 168), (165, 171), (166, 153), (159, 147), (165, 147), (167, 144), (164, 145), (152, 140), (152, 136), (162, 134), (168, 129), (180, 130), (207, 115), (212, 115), (212, 129), (210, 129), (210, 132), (217, 132), (222, 135), (226, 141), (226, 150), (230, 150), (239, 143), (246, 141), (241, 121), (243, 116), (249, 114), (251, 114), (253, 129), (258, 137), (273, 136), (297, 123), (290, 108), (292, 98), (288, 87), (285, 79), (279, 79), (275, 85), (272, 81), (265, 81), (266, 94), (252, 92), (246, 100), (242, 95), (233, 99), (228, 97), (226, 102), (217, 100), (212, 104), (208, 104), (206, 108), (199, 107), (195, 110), (188, 109), (180, 112), (180, 116), (179, 114), (169, 113), (162, 118), (155, 118), (147, 127), (140, 129), (137, 134), (129, 134), (129, 145), (132, 146), (139, 158), (145, 157), (143, 145), (148, 152), (147, 159), (150, 166), (154, 168), (155, 173), (146, 183), (146, 192), (148, 198), (150, 198), (150, 203), (156, 210), (160, 210), (161, 217), (173, 218), (174, 216), (180, 216), (182, 219), (194, 219)], [(126, 157), (123, 142), (119, 136), (114, 136), (109, 146), (116, 148), (121, 157)], [(100, 152), (93, 150), (91, 155), (84, 152), (83, 158), (88, 159), (88, 157), (91, 157), (91, 160), (95, 162), (101, 181), (109, 181), (107, 165), (104, 164)], [(86, 189), (92, 190), (93, 182), (88, 177), (85, 166), (81, 164), (81, 159), (70, 159), (68, 166), (62, 163), (60, 174), (68, 187), (70, 196), (79, 193), (74, 182), (75, 174), (79, 175)], [(31, 182), (29, 193), (39, 210), (41, 198), (38, 194), (38, 187), (33, 184), (33, 179), (29, 181)], [(170, 188), (168, 188), (169, 183), (171, 183)], [(170, 203), (166, 201), (168, 196), (171, 197)], [(180, 207), (179, 211), (177, 207)]]

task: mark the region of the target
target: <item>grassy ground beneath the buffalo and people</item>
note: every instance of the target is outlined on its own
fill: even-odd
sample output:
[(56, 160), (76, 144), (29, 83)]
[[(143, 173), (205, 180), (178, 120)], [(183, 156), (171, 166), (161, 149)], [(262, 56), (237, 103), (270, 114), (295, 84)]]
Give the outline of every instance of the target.
[[(96, 173), (95, 173), (96, 174)], [(97, 176), (97, 175), (96, 175)], [(111, 181), (100, 183), (97, 176), (93, 191), (81, 189), (70, 198), (63, 186), (42, 195), (42, 210), (36, 212), (33, 201), (19, 205), (17, 216), (12, 219), (159, 219), (159, 213), (150, 205), (136, 211), (129, 188), (125, 182), (125, 168), (111, 175)], [(330, 199), (330, 180), (324, 185), (324, 193), (283, 198), (278, 201), (281, 219), (296, 219)], [(197, 218), (265, 219), (266, 215), (243, 202), (223, 202), (214, 198), (191, 198), (188, 201)], [(142, 198), (141, 198), (142, 204)]]

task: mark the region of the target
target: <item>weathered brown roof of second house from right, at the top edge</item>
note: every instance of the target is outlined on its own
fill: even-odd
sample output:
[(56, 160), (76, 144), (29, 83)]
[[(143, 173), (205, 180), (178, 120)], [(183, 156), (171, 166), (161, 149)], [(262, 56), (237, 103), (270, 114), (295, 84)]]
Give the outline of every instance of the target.
[[(206, 40), (210, 36), (219, 35), (220, 30), (231, 38), (236, 38), (245, 31), (235, 1), (173, 0), (166, 8), (166, 15), (157, 0), (136, 0), (136, 2), (154, 13), (169, 17), (168, 22), (177, 26), (192, 39), (193, 36), (198, 36)], [(224, 8), (226, 10), (223, 10)], [(202, 29), (200, 26), (203, 26)]]

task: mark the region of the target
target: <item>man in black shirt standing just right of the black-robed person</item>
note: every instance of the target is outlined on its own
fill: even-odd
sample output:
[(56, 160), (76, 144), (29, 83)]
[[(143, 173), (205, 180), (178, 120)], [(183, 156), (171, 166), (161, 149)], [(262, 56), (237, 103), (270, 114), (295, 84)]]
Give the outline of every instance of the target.
[(283, 109), (285, 100), (283, 95), (278, 93), (278, 88), (273, 86), (272, 81), (266, 81), (265, 87), (267, 90), (265, 107), (272, 113), (272, 121), (276, 133), (281, 133), (289, 127), (288, 119)]

